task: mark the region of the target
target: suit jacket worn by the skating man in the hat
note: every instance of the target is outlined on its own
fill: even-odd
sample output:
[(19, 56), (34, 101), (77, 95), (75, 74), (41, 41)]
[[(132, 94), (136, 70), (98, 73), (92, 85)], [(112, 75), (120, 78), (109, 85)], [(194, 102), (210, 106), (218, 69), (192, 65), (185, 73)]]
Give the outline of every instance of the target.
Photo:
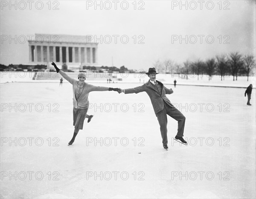
[(174, 107), (171, 103), (171, 101), (166, 97), (166, 94), (172, 94), (172, 89), (166, 88), (160, 81), (157, 81), (157, 83), (161, 87), (161, 93), (158, 91), (157, 87), (153, 85), (150, 81), (143, 84), (140, 87), (135, 87), (132, 89), (125, 89), (125, 94), (129, 93), (139, 93), (139, 92), (146, 92), (151, 100), (151, 103), (154, 108), (155, 114), (163, 110), (164, 108), (164, 102), (168, 104), (170, 107)]

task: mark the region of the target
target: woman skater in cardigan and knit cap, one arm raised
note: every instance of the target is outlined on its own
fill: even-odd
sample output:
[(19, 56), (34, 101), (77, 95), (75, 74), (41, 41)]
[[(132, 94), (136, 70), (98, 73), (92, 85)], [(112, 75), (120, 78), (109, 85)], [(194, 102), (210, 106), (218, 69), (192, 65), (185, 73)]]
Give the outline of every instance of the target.
[(56, 69), (56, 72), (60, 73), (63, 78), (70, 82), (73, 85), (73, 126), (75, 126), (73, 138), (70, 140), (68, 145), (73, 144), (79, 130), (83, 129), (84, 119), (88, 118), (90, 122), (93, 115), (87, 115), (87, 110), (89, 107), (88, 96), (92, 91), (118, 91), (118, 88), (108, 88), (108, 87), (96, 87), (90, 84), (85, 83), (86, 74), (84, 72), (79, 72), (78, 79), (70, 78), (65, 72), (58, 69), (56, 64), (52, 62), (52, 66)]

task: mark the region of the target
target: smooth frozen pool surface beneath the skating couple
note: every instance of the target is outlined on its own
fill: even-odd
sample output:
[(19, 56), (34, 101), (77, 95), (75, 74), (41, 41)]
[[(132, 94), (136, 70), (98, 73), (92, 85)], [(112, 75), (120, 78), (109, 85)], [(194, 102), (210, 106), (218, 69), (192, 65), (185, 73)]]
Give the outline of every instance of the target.
[(247, 106), (245, 89), (167, 87), (189, 141), (168, 116), (168, 151), (146, 93), (91, 92), (94, 117), (67, 146), (71, 84), (1, 84), (1, 198), (255, 198), (255, 89)]

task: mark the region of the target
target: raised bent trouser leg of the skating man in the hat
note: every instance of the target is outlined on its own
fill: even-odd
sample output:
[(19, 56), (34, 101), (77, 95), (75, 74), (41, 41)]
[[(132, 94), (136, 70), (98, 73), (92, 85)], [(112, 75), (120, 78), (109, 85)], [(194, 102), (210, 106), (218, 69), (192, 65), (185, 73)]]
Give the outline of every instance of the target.
[(177, 110), (175, 107), (170, 107), (167, 104), (165, 104), (165, 107), (166, 107), (167, 115), (171, 116), (176, 121), (178, 121), (177, 136), (178, 137), (183, 137), (184, 127), (185, 127), (185, 120), (186, 120), (185, 116), (179, 110)]

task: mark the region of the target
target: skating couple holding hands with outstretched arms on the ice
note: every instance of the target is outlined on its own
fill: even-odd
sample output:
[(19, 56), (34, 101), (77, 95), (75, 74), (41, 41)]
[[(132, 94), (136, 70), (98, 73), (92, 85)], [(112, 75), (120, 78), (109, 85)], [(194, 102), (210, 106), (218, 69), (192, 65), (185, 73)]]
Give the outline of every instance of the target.
[[(167, 115), (178, 121), (178, 130), (175, 139), (182, 144), (187, 144), (183, 139), (183, 132), (185, 126), (185, 116), (177, 110), (171, 103), (171, 101), (166, 97), (166, 94), (172, 94), (173, 90), (166, 88), (160, 81), (156, 80), (156, 75), (158, 74), (155, 68), (149, 68), (146, 75), (149, 77), (149, 81), (140, 87), (135, 87), (131, 89), (120, 89), (120, 88), (108, 88), (108, 87), (96, 87), (85, 82), (86, 74), (84, 72), (79, 72), (78, 80), (70, 78), (65, 72), (58, 69), (56, 64), (52, 62), (52, 66), (55, 67), (56, 72), (60, 73), (63, 78), (73, 85), (73, 126), (75, 126), (73, 138), (68, 143), (73, 144), (79, 130), (83, 129), (84, 119), (91, 119), (92, 116), (88, 116), (87, 110), (89, 106), (88, 96), (92, 91), (117, 91), (119, 93), (124, 92), (125, 94), (146, 92), (151, 100), (154, 108), (155, 115), (160, 125), (160, 132), (163, 139), (163, 147), (168, 149), (168, 139), (167, 139)], [(89, 120), (88, 119), (88, 120)]]

